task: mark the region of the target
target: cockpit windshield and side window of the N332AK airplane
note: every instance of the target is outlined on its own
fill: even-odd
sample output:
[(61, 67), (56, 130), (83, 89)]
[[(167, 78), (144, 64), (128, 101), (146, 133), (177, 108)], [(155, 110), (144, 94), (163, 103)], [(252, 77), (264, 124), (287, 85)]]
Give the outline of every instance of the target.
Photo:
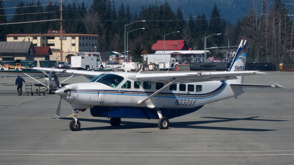
[[(95, 77), (96, 78), (96, 77)], [(96, 81), (96, 83), (102, 83), (110, 87), (117, 87), (123, 81), (123, 77), (114, 74), (104, 74), (100, 76)]]

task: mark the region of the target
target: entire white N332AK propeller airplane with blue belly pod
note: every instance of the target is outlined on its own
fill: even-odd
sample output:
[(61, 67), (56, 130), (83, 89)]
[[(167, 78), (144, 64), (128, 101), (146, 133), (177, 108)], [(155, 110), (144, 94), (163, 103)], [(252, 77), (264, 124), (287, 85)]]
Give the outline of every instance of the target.
[[(199, 110), (205, 104), (237, 97), (248, 88), (282, 87), (280, 85), (243, 84), (243, 76), (266, 74), (244, 71), (246, 47), (243, 40), (228, 71), (186, 73), (97, 73), (82, 70), (53, 69), (56, 73), (85, 75), (90, 83), (75, 83), (55, 93), (73, 107), (69, 127), (77, 131), (81, 123), (77, 113), (90, 108), (94, 117), (108, 117), (112, 126), (121, 118), (159, 119), (158, 127), (168, 129), (169, 119)], [(50, 68), (34, 68), (49, 71)], [(61, 103), (61, 100), (60, 100)], [(59, 118), (60, 103), (55, 117)]]

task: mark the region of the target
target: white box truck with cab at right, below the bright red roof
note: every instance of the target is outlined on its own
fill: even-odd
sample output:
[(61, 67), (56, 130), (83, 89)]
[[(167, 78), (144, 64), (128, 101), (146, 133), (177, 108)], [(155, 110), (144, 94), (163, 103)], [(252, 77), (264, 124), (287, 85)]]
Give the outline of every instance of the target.
[(143, 64), (150, 65), (155, 63), (155, 65), (159, 65), (159, 63), (174, 63), (174, 67), (178, 68), (179, 63), (176, 62), (175, 59), (171, 58), (171, 54), (143, 54)]

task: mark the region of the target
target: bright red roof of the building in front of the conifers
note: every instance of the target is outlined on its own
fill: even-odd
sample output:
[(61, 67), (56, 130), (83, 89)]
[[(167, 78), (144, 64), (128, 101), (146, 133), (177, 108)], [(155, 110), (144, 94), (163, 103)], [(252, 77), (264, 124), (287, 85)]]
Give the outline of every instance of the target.
[(164, 47), (165, 50), (189, 50), (189, 47), (186, 44), (185, 40), (158, 40), (156, 43), (153, 44), (151, 49), (153, 51), (157, 51), (163, 50)]

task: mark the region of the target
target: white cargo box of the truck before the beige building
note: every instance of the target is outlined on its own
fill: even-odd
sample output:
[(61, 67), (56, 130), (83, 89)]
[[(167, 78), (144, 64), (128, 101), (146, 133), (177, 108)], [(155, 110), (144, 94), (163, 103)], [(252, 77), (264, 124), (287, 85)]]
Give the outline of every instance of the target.
[(72, 56), (71, 68), (94, 70), (97, 69), (97, 58), (91, 56)]

